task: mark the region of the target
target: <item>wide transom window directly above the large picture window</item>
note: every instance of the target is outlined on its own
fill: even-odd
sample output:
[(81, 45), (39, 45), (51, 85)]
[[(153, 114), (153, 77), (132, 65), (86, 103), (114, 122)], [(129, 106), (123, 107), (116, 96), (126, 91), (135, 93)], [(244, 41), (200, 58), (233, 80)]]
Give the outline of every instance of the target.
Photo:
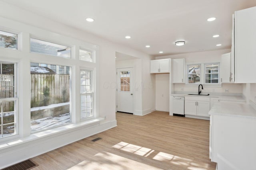
[(30, 38), (30, 52), (71, 58), (71, 47)]

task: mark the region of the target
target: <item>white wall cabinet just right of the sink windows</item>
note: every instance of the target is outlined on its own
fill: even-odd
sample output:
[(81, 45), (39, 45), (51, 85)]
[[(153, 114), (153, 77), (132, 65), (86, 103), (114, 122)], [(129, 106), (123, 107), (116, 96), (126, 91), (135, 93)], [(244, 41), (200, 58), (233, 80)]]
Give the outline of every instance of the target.
[(227, 53), (221, 56), (220, 62), (220, 77), (222, 83), (229, 83), (230, 82), (230, 59), (231, 53)]

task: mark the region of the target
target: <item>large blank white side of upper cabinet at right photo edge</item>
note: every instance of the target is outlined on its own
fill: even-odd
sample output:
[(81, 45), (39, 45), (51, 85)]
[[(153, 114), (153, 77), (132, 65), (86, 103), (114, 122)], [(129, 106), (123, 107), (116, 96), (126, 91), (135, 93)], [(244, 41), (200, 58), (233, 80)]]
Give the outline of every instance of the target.
[(256, 7), (235, 12), (233, 39), (235, 82), (256, 83)]

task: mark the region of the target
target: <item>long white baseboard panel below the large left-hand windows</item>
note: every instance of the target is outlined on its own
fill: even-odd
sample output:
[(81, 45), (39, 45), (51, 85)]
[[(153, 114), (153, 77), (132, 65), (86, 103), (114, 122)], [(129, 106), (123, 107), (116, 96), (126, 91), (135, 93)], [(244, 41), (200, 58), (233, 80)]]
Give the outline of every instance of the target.
[(116, 120), (108, 121), (101, 125), (98, 124), (93, 125), (92, 127), (87, 127), (86, 129), (80, 128), (76, 131), (69, 131), (61, 135), (50, 135), (48, 137), (42, 137), (33, 141), (14, 145), (6, 149), (1, 149), (0, 169), (49, 152), (59, 147), (63, 147), (116, 126)]

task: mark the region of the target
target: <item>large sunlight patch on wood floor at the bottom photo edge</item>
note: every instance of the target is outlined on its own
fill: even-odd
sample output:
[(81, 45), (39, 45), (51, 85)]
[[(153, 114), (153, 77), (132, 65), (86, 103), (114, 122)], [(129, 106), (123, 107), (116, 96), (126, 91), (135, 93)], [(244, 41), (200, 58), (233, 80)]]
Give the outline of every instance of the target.
[(110, 152), (95, 154), (91, 160), (84, 160), (68, 170), (160, 170), (154, 166), (124, 158)]

